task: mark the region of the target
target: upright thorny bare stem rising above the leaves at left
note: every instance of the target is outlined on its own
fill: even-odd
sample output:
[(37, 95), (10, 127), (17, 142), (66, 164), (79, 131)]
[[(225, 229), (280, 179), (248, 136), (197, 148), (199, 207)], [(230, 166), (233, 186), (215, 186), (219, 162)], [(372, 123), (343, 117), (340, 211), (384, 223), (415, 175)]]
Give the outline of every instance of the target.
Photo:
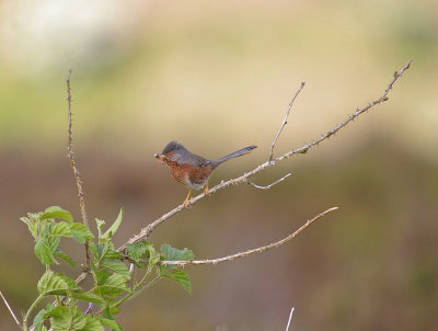
[[(87, 217), (87, 210), (85, 210), (85, 198), (83, 197), (83, 190), (82, 190), (82, 180), (81, 175), (79, 174), (78, 167), (76, 164), (76, 158), (74, 158), (74, 152), (73, 152), (73, 146), (72, 146), (72, 125), (73, 122), (71, 119), (71, 89), (70, 89), (70, 78), (71, 78), (71, 70), (69, 70), (68, 77), (67, 77), (67, 101), (68, 101), (68, 112), (67, 112), (67, 119), (68, 119), (68, 139), (67, 139), (67, 157), (70, 159), (70, 167), (71, 170), (73, 171), (74, 180), (76, 180), (76, 185), (78, 187), (78, 196), (79, 196), (79, 208), (81, 209), (81, 215), (82, 215), (82, 222), (87, 226), (87, 228), (90, 229), (89, 227), (89, 221)], [(87, 266), (90, 265), (90, 253), (89, 253), (89, 242), (85, 241), (85, 263)]]

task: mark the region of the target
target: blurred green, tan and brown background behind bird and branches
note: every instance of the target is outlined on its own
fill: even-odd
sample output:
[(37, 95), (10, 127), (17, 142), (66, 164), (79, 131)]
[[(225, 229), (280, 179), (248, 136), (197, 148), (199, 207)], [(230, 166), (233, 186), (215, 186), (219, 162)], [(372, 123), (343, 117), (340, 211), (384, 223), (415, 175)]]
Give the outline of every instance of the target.
[[(215, 185), (267, 159), (301, 81), (277, 155), (379, 96), (412, 57), (388, 102), (253, 181), (289, 179), (218, 192), (151, 241), (216, 258), (339, 210), (279, 249), (187, 269), (192, 296), (163, 281), (123, 310), (125, 330), (285, 330), (291, 307), (290, 330), (438, 330), (438, 2), (2, 0), (1, 290), (20, 313), (43, 273), (19, 217), (59, 205), (80, 218), (69, 69), (88, 213), (123, 207), (120, 244), (185, 197), (152, 158), (168, 141), (208, 158), (258, 145)], [(2, 304), (0, 329), (16, 329)]]

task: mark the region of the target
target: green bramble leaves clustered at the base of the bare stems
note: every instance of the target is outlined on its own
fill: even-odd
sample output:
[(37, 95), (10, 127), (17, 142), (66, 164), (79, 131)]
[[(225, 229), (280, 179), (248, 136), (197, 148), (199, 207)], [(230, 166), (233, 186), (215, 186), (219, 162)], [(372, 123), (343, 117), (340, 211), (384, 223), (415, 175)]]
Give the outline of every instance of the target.
[[(145, 289), (162, 278), (173, 279), (187, 293), (192, 292), (186, 273), (174, 265), (161, 265), (160, 261), (188, 261), (194, 259), (191, 250), (178, 250), (163, 243), (160, 252), (147, 240), (127, 244), (126, 254), (114, 249), (113, 236), (122, 224), (123, 212), (112, 226), (104, 230), (105, 221), (96, 219), (97, 238), (85, 225), (74, 222), (71, 214), (60, 207), (48, 207), (43, 213), (30, 213), (22, 217), (35, 239), (35, 255), (46, 266), (46, 272), (37, 283), (38, 296), (23, 318), (23, 330), (47, 331), (101, 331), (105, 327), (119, 331), (116, 322), (120, 306), (134, 299)], [(85, 269), (93, 276), (93, 285), (83, 289), (64, 273), (50, 267), (62, 260), (74, 267), (76, 262), (61, 251), (61, 238), (71, 238), (77, 243), (89, 243), (90, 265)], [(128, 265), (131, 269), (128, 269)], [(34, 317), (32, 312), (42, 300), (53, 297), (56, 304), (46, 305)], [(80, 304), (82, 303), (82, 305)], [(79, 305), (89, 309), (82, 311)], [(96, 308), (95, 308), (96, 307)], [(95, 308), (95, 312), (90, 313)]]

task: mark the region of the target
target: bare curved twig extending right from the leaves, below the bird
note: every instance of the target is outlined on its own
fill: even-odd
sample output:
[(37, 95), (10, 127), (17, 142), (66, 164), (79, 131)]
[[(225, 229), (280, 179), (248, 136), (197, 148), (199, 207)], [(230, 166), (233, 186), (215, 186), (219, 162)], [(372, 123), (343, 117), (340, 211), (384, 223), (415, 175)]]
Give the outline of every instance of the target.
[(244, 252), (240, 252), (240, 253), (235, 253), (232, 255), (228, 255), (228, 256), (223, 256), (223, 258), (218, 258), (218, 259), (212, 259), (212, 260), (193, 260), (193, 261), (160, 261), (160, 264), (163, 265), (196, 265), (196, 264), (218, 264), (220, 262), (226, 262), (226, 261), (232, 261), (239, 258), (244, 258), (250, 254), (254, 254), (254, 253), (260, 253), (260, 252), (264, 252), (267, 251), (272, 248), (277, 248), (281, 244), (285, 244), (286, 242), (292, 240), (295, 237), (297, 237), (298, 235), (300, 235), (307, 227), (309, 227), (312, 222), (314, 222), (316, 219), (323, 217), (324, 215), (338, 209), (338, 207), (332, 207), (326, 209), (325, 212), (322, 212), (321, 214), (318, 214), (315, 217), (313, 217), (312, 219), (309, 219), (307, 222), (304, 222), (298, 230), (296, 230), (293, 233), (289, 235), (288, 237), (278, 240), (276, 242), (269, 243), (267, 246), (263, 246), (256, 249), (252, 249), (252, 250), (247, 250)]

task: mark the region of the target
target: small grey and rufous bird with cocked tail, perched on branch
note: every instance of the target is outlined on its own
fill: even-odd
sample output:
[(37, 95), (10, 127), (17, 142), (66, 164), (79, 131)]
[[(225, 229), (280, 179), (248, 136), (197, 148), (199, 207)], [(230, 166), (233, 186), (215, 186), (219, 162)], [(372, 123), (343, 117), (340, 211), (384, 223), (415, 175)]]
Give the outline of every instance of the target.
[(205, 194), (209, 193), (208, 179), (219, 164), (230, 159), (244, 156), (254, 148), (257, 148), (257, 146), (251, 145), (217, 160), (208, 160), (192, 153), (182, 144), (173, 140), (164, 147), (161, 153), (155, 153), (153, 157), (159, 163), (166, 164), (172, 176), (188, 189), (187, 196), (183, 203), (184, 207), (187, 208), (192, 190), (204, 189)]

